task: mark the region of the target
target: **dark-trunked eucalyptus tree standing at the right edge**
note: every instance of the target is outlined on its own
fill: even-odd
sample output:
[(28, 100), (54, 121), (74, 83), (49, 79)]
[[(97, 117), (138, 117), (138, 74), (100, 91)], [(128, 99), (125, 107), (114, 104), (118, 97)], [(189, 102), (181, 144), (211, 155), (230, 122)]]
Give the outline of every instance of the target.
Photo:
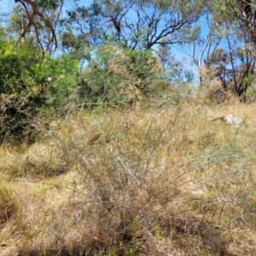
[(224, 54), (229, 60), (229, 76), (224, 75), (223, 79), (233, 87), (236, 96), (245, 100), (252, 85), (256, 61), (256, 1), (219, 2), (212, 1), (212, 17), (218, 21), (218, 33), (224, 38)]

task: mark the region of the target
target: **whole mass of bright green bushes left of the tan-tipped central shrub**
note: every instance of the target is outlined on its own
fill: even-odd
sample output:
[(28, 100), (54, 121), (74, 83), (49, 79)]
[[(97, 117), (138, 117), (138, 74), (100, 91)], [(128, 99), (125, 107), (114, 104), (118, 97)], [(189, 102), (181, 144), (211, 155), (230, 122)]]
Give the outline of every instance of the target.
[(78, 61), (46, 56), (32, 42), (15, 46), (0, 38), (0, 142), (32, 136), (32, 119), (43, 109), (60, 109), (76, 85)]

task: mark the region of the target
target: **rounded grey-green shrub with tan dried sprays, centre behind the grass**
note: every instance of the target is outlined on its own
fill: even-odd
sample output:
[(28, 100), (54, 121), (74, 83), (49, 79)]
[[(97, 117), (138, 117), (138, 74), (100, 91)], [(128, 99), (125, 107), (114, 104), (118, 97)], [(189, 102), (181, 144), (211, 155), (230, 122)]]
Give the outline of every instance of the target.
[(165, 90), (169, 84), (151, 51), (105, 44), (96, 48), (80, 74), (79, 97), (86, 107), (131, 106)]

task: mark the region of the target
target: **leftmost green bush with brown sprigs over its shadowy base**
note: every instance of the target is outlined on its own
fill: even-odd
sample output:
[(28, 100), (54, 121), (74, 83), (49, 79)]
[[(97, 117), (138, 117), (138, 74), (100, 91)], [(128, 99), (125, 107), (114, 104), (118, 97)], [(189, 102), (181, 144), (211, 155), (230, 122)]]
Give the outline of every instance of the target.
[[(41, 105), (40, 91), (29, 75), (37, 60), (37, 50), (32, 44), (1, 41), (0, 55), (0, 141), (7, 133), (23, 136), (28, 119), (36, 114)], [(33, 90), (34, 89), (34, 90)]]

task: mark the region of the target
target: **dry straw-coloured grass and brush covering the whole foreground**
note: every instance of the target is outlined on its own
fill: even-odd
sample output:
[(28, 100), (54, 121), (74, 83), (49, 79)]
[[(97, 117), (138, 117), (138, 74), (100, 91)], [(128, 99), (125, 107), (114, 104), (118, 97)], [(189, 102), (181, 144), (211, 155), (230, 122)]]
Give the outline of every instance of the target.
[[(240, 128), (221, 120), (244, 119)], [(256, 106), (79, 112), (0, 148), (0, 255), (256, 255)]]

